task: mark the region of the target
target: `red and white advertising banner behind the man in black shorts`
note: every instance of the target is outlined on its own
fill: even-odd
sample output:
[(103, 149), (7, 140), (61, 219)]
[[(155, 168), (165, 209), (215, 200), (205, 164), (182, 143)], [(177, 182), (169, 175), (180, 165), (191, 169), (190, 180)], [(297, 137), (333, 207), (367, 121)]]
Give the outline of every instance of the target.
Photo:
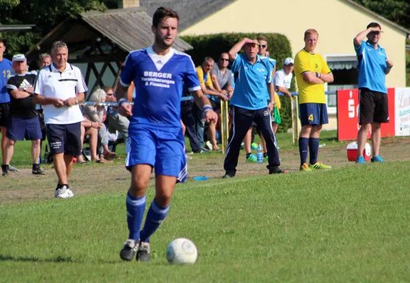
[[(402, 96), (397, 95), (402, 93)], [(396, 135), (410, 135), (410, 88), (388, 88), (389, 99), (389, 122), (382, 124), (382, 137), (394, 137)], [(399, 102), (399, 97), (401, 102)], [(398, 116), (398, 105), (401, 105), (402, 116)], [(357, 139), (360, 125), (358, 122), (359, 90), (346, 89), (337, 91), (337, 124), (338, 140), (346, 141)], [(397, 129), (398, 120), (402, 122), (402, 134)], [(406, 130), (407, 132), (404, 132)], [(371, 129), (368, 139), (371, 136)]]

